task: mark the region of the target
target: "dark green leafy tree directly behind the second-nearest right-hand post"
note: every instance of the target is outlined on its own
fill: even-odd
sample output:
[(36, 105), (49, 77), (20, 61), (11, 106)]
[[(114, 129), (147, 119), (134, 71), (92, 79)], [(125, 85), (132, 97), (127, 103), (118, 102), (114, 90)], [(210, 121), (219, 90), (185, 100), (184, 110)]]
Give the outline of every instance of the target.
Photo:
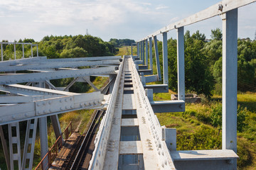
[[(204, 36), (197, 31), (192, 36), (187, 30), (185, 38), (185, 86), (186, 91), (196, 91), (197, 94), (212, 95), (214, 81), (208, 68), (204, 47)], [(168, 41), (169, 55), (169, 89), (177, 91), (177, 55), (176, 40)]]

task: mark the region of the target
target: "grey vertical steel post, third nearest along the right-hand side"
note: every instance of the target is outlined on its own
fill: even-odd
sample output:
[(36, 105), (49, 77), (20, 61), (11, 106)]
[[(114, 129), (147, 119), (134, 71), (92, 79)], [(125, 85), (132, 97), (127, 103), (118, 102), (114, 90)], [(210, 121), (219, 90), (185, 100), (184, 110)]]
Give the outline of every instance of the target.
[(163, 77), (164, 84), (168, 84), (168, 49), (167, 49), (167, 33), (162, 33), (163, 35)]

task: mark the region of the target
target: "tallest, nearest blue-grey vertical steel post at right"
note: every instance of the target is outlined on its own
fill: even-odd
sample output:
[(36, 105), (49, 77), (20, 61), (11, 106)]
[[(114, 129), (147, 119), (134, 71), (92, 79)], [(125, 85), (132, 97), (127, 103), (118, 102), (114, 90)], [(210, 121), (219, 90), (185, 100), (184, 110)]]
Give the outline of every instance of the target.
[[(237, 152), (238, 8), (223, 14), (223, 149)], [(236, 166), (236, 164), (235, 164)]]

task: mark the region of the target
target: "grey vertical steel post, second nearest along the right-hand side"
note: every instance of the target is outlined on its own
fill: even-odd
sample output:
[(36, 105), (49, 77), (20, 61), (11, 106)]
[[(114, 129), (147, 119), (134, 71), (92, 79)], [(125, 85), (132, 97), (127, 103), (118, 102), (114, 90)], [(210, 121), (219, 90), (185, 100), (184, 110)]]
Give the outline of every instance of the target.
[(177, 29), (178, 100), (185, 101), (184, 28)]

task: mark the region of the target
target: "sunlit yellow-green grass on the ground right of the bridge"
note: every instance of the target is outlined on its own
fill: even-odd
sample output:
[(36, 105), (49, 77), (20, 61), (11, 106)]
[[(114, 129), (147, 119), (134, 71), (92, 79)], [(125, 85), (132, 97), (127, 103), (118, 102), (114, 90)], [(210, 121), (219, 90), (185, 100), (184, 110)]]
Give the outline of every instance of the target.
[[(154, 100), (169, 100), (170, 94), (154, 94)], [(239, 93), (238, 104), (245, 111), (247, 124), (238, 132), (238, 169), (256, 169), (256, 95)], [(221, 127), (213, 126), (211, 115), (221, 106), (221, 96), (210, 101), (186, 103), (184, 113), (156, 113), (159, 123), (176, 128), (177, 149), (221, 149)]]

